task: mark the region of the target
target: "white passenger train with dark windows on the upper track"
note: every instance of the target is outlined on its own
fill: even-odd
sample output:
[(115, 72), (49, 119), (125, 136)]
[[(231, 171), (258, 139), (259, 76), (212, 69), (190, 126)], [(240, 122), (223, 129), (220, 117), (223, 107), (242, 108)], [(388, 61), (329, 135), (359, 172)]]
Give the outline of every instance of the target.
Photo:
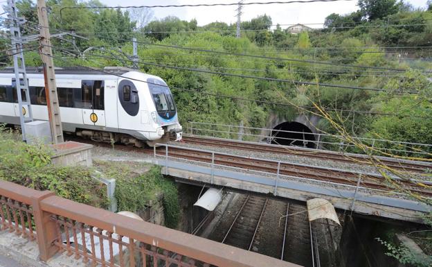
[[(48, 120), (42, 68), (27, 71), (33, 119)], [(149, 146), (181, 139), (174, 98), (157, 76), (131, 69), (56, 69), (63, 131), (96, 141)], [(13, 69), (0, 70), (0, 123), (19, 125)], [(25, 99), (25, 94), (23, 99)], [(28, 112), (26, 115), (28, 116)]]

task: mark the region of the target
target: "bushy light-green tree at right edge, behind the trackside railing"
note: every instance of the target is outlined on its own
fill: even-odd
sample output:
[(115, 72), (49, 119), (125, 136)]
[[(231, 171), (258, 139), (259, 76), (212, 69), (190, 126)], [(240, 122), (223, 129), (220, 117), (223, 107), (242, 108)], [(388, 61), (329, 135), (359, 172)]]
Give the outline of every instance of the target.
[(386, 83), (386, 89), (388, 92), (372, 98), (372, 110), (399, 116), (375, 117), (370, 123), (368, 135), (389, 140), (432, 144), (432, 120), (425, 119), (432, 114), (432, 83), (420, 71), (411, 70), (402, 77), (390, 79)]

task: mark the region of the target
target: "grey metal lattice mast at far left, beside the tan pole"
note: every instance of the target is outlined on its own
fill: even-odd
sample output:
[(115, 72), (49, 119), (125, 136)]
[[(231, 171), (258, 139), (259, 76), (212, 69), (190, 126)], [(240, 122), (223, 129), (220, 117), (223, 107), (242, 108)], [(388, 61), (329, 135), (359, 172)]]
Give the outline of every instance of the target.
[[(10, 39), (12, 40), (12, 55), (15, 71), (15, 89), (17, 89), (19, 122), (23, 141), (26, 141), (26, 130), (24, 123), (33, 121), (33, 112), (30, 105), (30, 93), (28, 92), (28, 80), (26, 64), (24, 62), (23, 44), (19, 25), (24, 24), (25, 19), (18, 17), (15, 0), (8, 0), (8, 20), (10, 28)], [(25, 99), (23, 99), (23, 96)]]

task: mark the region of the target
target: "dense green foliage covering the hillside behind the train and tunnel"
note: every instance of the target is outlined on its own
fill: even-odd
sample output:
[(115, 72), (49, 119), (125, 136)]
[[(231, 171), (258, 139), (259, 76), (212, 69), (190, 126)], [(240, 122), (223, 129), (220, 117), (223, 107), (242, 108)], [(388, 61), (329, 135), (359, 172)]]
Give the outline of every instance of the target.
[[(37, 23), (34, 5), (30, 0), (19, 1), (19, 11), (30, 24)], [(167, 81), (183, 124), (203, 121), (238, 125), (243, 121), (245, 126), (270, 127), (269, 118), (291, 120), (302, 112), (316, 112), (311, 106), (318, 103), (357, 136), (432, 142), (428, 130), (432, 121), (431, 82), (427, 80), (431, 77), (428, 71), (432, 56), (427, 48), (432, 45), (430, 11), (396, 0), (360, 0), (358, 11), (329, 15), (323, 29), (294, 34), (289, 28), (272, 27), (271, 17), (261, 15), (242, 21), (242, 37), (237, 39), (235, 24), (224, 22), (198, 26), (195, 19), (166, 17), (143, 25), (150, 12), (141, 9), (142, 17), (133, 15), (140, 25), (136, 26), (129, 10), (63, 9), (60, 16), (61, 8), (102, 6), (98, 1), (49, 0), (48, 6), (53, 31), (74, 31), (88, 38), (75, 38), (75, 45), (53, 39), (57, 66), (130, 66), (132, 62), (127, 57), (132, 53), (130, 40), (137, 37), (138, 67)], [(430, 2), (427, 8), (430, 9)], [(26, 27), (26, 31), (35, 33), (31, 27)], [(6, 42), (0, 39), (0, 48), (6, 47)], [(71, 56), (90, 46), (93, 49), (84, 56)], [(0, 60), (10, 64), (10, 58)], [(28, 65), (41, 64), (36, 51), (27, 52), (26, 60)], [(204, 74), (155, 64), (286, 81)], [(299, 85), (292, 81), (377, 88), (385, 92)], [(420, 94), (409, 94), (417, 91)], [(354, 110), (359, 112), (350, 112)], [(325, 132), (336, 132), (325, 120), (318, 126)]]

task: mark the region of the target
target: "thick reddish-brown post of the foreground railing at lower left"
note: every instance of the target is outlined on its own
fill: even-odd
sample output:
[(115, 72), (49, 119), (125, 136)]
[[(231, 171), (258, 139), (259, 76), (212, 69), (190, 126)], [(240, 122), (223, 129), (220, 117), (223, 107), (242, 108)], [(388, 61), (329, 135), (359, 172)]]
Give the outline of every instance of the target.
[(35, 220), (39, 258), (45, 262), (48, 261), (48, 259), (51, 259), (51, 257), (53, 257), (59, 250), (59, 247), (55, 245), (57, 239), (57, 225), (55, 221), (51, 220), (53, 214), (44, 212), (40, 207), (41, 201), (50, 196), (55, 196), (55, 193), (44, 191), (41, 196), (32, 199), (33, 219)]

